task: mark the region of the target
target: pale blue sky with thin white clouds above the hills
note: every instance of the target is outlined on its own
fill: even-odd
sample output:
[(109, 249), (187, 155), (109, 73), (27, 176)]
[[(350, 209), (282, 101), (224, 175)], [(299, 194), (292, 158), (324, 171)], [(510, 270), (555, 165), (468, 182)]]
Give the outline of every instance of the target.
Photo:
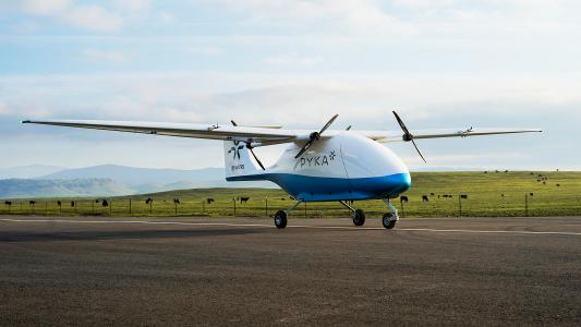
[[(390, 144), (414, 169), (581, 169), (581, 2), (0, 0), (0, 168), (222, 167), (218, 141), (23, 119), (538, 128)], [(267, 164), (280, 146), (259, 148)]]

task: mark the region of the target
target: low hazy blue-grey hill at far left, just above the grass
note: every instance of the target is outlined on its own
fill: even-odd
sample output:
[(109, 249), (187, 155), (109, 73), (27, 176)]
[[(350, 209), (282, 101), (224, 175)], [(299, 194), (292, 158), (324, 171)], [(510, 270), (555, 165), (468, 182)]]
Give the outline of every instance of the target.
[(0, 180), (0, 197), (113, 196), (134, 191), (110, 179)]

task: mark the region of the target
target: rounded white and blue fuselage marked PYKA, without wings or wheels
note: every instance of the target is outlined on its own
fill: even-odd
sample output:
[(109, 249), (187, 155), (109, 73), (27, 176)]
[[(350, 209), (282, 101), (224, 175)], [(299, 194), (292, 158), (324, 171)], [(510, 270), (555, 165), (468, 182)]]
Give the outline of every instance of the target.
[(388, 147), (356, 132), (316, 142), (300, 158), (301, 143), (291, 144), (266, 170), (228, 180), (269, 180), (302, 201), (395, 197), (411, 185), (410, 172)]

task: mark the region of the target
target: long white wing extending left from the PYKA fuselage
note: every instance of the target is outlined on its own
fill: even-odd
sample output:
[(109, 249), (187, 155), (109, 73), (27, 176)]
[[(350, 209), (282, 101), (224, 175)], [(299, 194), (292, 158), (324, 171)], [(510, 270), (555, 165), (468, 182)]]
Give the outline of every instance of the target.
[(208, 140), (233, 140), (256, 145), (294, 142), (295, 131), (273, 128), (220, 126), (189, 123), (101, 121), (101, 120), (25, 120), (22, 123), (44, 124), (90, 130), (118, 131)]

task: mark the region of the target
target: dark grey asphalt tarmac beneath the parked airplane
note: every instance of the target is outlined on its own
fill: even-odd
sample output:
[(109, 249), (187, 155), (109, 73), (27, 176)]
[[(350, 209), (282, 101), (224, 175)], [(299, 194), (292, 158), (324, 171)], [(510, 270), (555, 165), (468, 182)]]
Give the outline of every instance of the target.
[(581, 324), (579, 217), (289, 226), (0, 216), (0, 325)]

